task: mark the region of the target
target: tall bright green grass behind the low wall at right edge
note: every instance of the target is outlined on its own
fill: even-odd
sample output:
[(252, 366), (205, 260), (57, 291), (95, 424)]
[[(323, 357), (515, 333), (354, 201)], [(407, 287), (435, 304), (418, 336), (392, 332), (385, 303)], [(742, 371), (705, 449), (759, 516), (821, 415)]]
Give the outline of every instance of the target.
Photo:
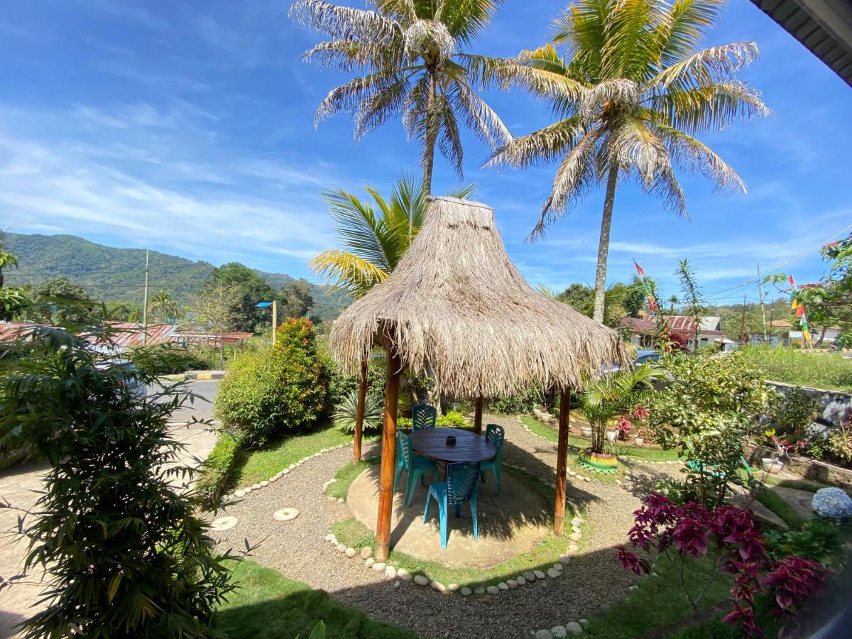
[(793, 348), (749, 346), (742, 349), (746, 360), (766, 371), (774, 382), (812, 386), (852, 393), (852, 360), (839, 353), (809, 354)]

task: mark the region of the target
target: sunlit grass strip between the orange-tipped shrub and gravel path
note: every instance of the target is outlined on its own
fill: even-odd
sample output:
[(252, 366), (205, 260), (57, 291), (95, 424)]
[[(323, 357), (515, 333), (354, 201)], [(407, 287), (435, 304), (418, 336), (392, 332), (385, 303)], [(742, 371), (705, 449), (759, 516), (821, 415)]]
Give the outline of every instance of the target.
[(246, 486), (268, 480), (291, 463), (320, 452), (323, 448), (347, 444), (351, 440), (352, 435), (343, 433), (331, 423), (325, 423), (304, 435), (271, 441), (262, 449), (246, 454), (245, 462), (234, 472), (236, 485)]

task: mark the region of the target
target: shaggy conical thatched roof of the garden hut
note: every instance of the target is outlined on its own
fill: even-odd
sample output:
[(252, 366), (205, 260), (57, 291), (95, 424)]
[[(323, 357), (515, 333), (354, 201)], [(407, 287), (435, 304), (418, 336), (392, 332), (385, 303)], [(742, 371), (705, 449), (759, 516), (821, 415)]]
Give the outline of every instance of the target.
[(533, 291), (491, 208), (453, 198), (430, 199), (396, 270), (343, 311), (330, 341), (352, 372), (373, 345), (393, 348), (414, 374), (429, 360), (441, 392), (458, 397), (579, 389), (584, 374), (626, 360), (618, 333)]

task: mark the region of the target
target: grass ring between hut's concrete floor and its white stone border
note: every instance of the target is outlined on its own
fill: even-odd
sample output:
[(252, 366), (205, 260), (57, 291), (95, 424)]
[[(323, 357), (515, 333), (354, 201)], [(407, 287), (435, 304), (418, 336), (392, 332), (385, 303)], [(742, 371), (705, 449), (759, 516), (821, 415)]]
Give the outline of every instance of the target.
[[(541, 493), (550, 502), (553, 501), (554, 492), (550, 487), (544, 486), (540, 482), (533, 480), (529, 475), (516, 469), (504, 469), (504, 472), (511, 472), (522, 481), (525, 481), (530, 487), (530, 490)], [(337, 482), (331, 486), (336, 485)], [(568, 505), (566, 508), (566, 519), (570, 521), (575, 514), (571, 506)], [(354, 517), (333, 524), (331, 531), (340, 542), (356, 550), (365, 546), (376, 547), (375, 535)], [(406, 568), (409, 573), (425, 574), (429, 579), (439, 581), (441, 584), (467, 585), (472, 588), (477, 585), (487, 586), (498, 584), (506, 579), (513, 579), (525, 570), (540, 568), (546, 571), (547, 568), (559, 561), (559, 556), (565, 552), (566, 545), (567, 538), (556, 538), (552, 533), (549, 533), (533, 550), (521, 553), (521, 555), (515, 556), (509, 561), (504, 561), (504, 563), (498, 566), (483, 569), (445, 567), (436, 561), (415, 559), (396, 550), (391, 550), (388, 561), (396, 567)], [(567, 569), (570, 569), (570, 567)]]

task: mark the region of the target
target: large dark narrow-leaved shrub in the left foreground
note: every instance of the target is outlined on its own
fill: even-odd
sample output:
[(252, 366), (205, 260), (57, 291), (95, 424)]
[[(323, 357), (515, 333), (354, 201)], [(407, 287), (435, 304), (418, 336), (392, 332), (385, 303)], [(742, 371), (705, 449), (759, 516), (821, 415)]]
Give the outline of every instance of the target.
[[(20, 515), (30, 544), (24, 572), (48, 572), (44, 609), (22, 634), (212, 636), (216, 607), (234, 586), (223, 563), (230, 553), (216, 553), (196, 515), (199, 493), (172, 481), (192, 475), (174, 465), (181, 444), (167, 425), (187, 393), (157, 380), (180, 362), (143, 348), (135, 371), (111, 365), (102, 354), (110, 331), (39, 328), (3, 379), (0, 433), (49, 463), (44, 492)], [(158, 391), (139, 397), (137, 383)]]

